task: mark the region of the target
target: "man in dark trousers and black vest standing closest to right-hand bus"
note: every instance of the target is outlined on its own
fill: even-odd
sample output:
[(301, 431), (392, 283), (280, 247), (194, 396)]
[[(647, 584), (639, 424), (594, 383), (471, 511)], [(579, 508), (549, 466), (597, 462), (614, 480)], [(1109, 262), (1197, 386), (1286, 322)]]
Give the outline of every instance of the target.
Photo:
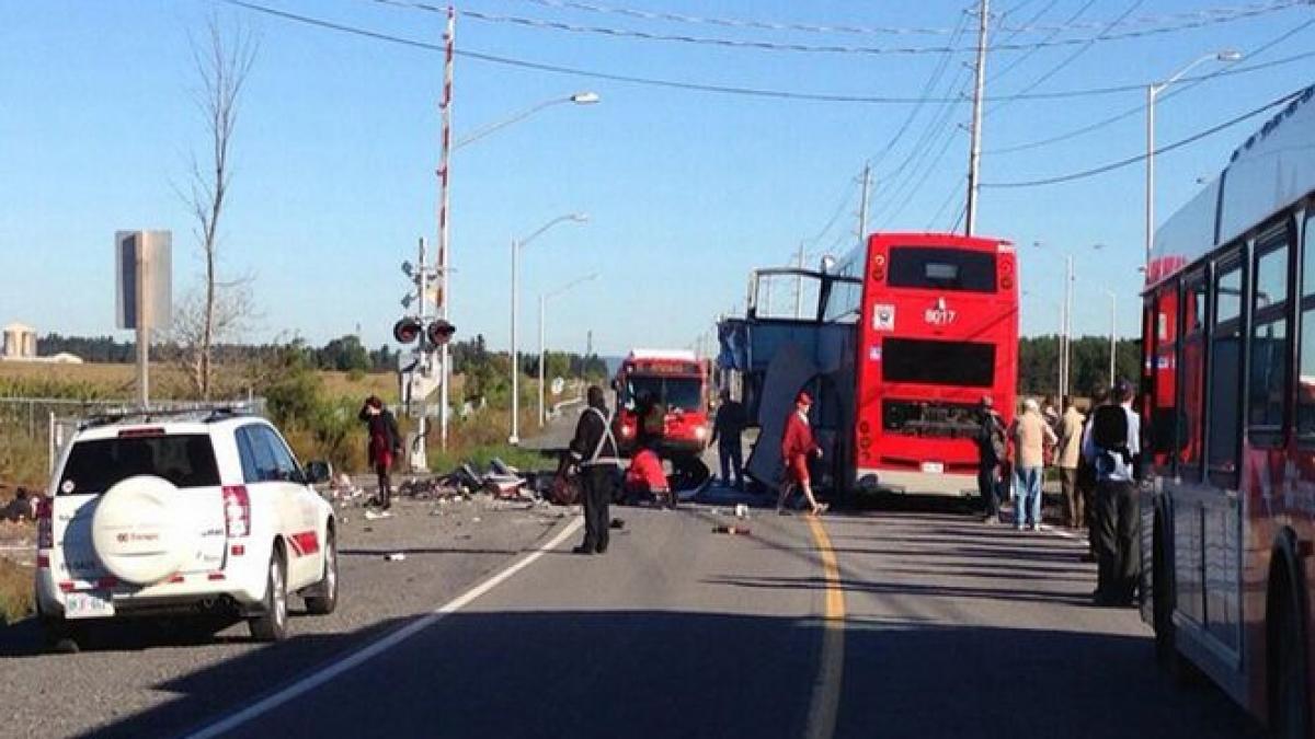
[(1132, 385), (1115, 383), (1110, 401), (1091, 412), (1082, 455), (1095, 468), (1095, 604), (1130, 606), (1137, 586), (1136, 471), (1141, 419), (1132, 412)]

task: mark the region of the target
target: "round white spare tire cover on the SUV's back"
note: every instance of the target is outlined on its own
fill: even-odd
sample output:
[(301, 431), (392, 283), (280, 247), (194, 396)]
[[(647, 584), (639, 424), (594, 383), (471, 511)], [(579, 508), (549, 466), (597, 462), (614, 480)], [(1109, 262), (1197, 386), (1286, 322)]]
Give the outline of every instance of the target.
[(168, 480), (139, 475), (121, 480), (96, 502), (91, 538), (96, 556), (125, 583), (158, 583), (191, 554), (183, 500)]

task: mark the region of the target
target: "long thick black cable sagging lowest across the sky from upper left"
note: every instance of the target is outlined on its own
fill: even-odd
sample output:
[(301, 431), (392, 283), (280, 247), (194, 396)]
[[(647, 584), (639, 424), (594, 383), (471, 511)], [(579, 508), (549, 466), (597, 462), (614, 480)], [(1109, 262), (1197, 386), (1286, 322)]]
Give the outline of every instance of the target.
[[(429, 43), (429, 42), (425, 42), (425, 41), (416, 41), (413, 38), (405, 38), (405, 37), (392, 36), (392, 34), (387, 34), (387, 33), (381, 33), (381, 32), (376, 32), (376, 30), (370, 30), (370, 29), (359, 28), (359, 26), (351, 26), (351, 25), (346, 25), (346, 24), (338, 24), (338, 22), (334, 22), (334, 21), (327, 21), (327, 20), (317, 18), (317, 17), (313, 17), (313, 16), (306, 16), (306, 14), (300, 14), (300, 13), (291, 13), (288, 11), (280, 11), (280, 9), (276, 9), (276, 8), (270, 8), (270, 7), (266, 7), (266, 5), (259, 5), (256, 3), (249, 3), (246, 0), (212, 0), (212, 1), (214, 1), (214, 3), (222, 3), (225, 5), (233, 5), (233, 7), (238, 7), (238, 8), (245, 8), (247, 11), (255, 12), (255, 13), (263, 13), (263, 14), (267, 14), (267, 16), (271, 16), (271, 17), (281, 18), (284, 21), (299, 22), (299, 24), (304, 24), (304, 25), (309, 25), (309, 26), (321, 28), (321, 29), (325, 29), (325, 30), (334, 30), (334, 32), (346, 33), (346, 34), (351, 34), (351, 36), (358, 36), (358, 37), (363, 37), (363, 38), (371, 38), (373, 41), (383, 41), (385, 43), (396, 43), (398, 46), (406, 46), (406, 47), (418, 49), (418, 50), (423, 50), (423, 51), (443, 53), (442, 45), (438, 45), (438, 43)], [(589, 68), (581, 68), (581, 67), (568, 67), (568, 66), (562, 66), (562, 64), (548, 64), (548, 63), (543, 63), (543, 62), (533, 62), (533, 60), (527, 60), (527, 59), (518, 59), (518, 58), (513, 58), (513, 57), (502, 57), (502, 55), (487, 54), (487, 53), (481, 53), (481, 51), (463, 50), (463, 49), (458, 49), (455, 51), (455, 54), (458, 57), (463, 57), (463, 58), (467, 58), (467, 59), (473, 59), (473, 60), (485, 62), (485, 63), (490, 63), (490, 64), (505, 66), (505, 67), (514, 67), (514, 68), (521, 68), (521, 70), (531, 70), (531, 71), (538, 71), (538, 72), (548, 72), (548, 74), (558, 74), (558, 75), (573, 75), (573, 76), (588, 78), (588, 79), (601, 79), (601, 80), (618, 82), (618, 83), (625, 83), (625, 84), (639, 84), (639, 85), (647, 85), (647, 87), (660, 87), (660, 88), (667, 88), (667, 89), (682, 89), (682, 91), (689, 91), (689, 92), (707, 92), (707, 93), (715, 93), (715, 95), (735, 95), (735, 96), (743, 96), (743, 97), (760, 97), (760, 99), (767, 99), (767, 100), (792, 100), (792, 101), (803, 101), (803, 103), (846, 103), (846, 104), (863, 104), (863, 105), (918, 105), (919, 103), (957, 103), (959, 101), (957, 99), (951, 99), (951, 97), (940, 97), (940, 99), (930, 97), (930, 99), (924, 99), (924, 97), (905, 97), (905, 96), (844, 95), (844, 93), (828, 93), (828, 92), (806, 92), (806, 91), (794, 91), (794, 89), (772, 89), (772, 88), (740, 87), (740, 85), (727, 85), (727, 84), (711, 84), (711, 83), (698, 83), (698, 82), (688, 82), (688, 80), (675, 80), (675, 79), (665, 79), (665, 78), (650, 78), (650, 76), (639, 76), (639, 75), (621, 75), (621, 74), (611, 74), (611, 72), (601, 72), (601, 71), (597, 71), (597, 70), (589, 70)], [(1274, 62), (1274, 63), (1270, 63), (1270, 64), (1265, 64), (1264, 67), (1277, 66), (1278, 63), (1295, 62), (1295, 60), (1301, 60), (1301, 59), (1304, 59), (1304, 58), (1311, 57), (1311, 55), (1315, 55), (1315, 53), (1299, 54), (1297, 57), (1290, 57), (1290, 58), (1287, 58), (1285, 60), (1281, 60), (1281, 62)], [(1214, 74), (1210, 74), (1210, 75), (1201, 75), (1201, 76), (1197, 76), (1197, 78), (1184, 78), (1181, 82), (1185, 83), (1185, 82), (1189, 82), (1189, 80), (1211, 79), (1211, 78), (1215, 78), (1215, 76), (1223, 76), (1226, 74), (1243, 74), (1243, 72), (1256, 71), (1258, 68), (1262, 68), (1262, 67), (1253, 66), (1253, 67), (1245, 67), (1245, 68), (1236, 68), (1236, 70), (1231, 70), (1231, 71), (1214, 72)], [(998, 97), (986, 96), (985, 100), (988, 100), (988, 101), (993, 101), (993, 100), (1011, 100), (1014, 97), (1016, 97), (1019, 100), (1057, 100), (1057, 99), (1064, 99), (1064, 97), (1084, 97), (1084, 96), (1090, 96), (1090, 95), (1112, 95), (1112, 93), (1119, 93), (1119, 92), (1140, 91), (1140, 89), (1144, 89), (1144, 88), (1145, 88), (1144, 84), (1128, 84), (1128, 85), (1091, 88), (1091, 89), (1073, 89), (1073, 91), (1063, 91), (1063, 92), (1043, 92), (1043, 93), (1031, 93), (1031, 95), (1020, 95), (1020, 96), (998, 96)]]

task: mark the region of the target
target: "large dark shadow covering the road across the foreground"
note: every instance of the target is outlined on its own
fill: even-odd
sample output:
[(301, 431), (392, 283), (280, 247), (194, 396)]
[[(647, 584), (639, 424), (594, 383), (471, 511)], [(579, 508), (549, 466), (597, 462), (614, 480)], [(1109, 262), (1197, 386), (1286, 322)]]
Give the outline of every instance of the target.
[[(158, 685), (174, 694), (167, 703), (96, 735), (204, 726), (396, 626), (296, 636), (201, 668)], [(819, 639), (817, 622), (798, 618), (458, 613), (235, 735), (800, 736)], [(869, 619), (848, 626), (844, 654), (836, 736), (1253, 731), (1216, 692), (1180, 689), (1159, 673), (1144, 638)]]

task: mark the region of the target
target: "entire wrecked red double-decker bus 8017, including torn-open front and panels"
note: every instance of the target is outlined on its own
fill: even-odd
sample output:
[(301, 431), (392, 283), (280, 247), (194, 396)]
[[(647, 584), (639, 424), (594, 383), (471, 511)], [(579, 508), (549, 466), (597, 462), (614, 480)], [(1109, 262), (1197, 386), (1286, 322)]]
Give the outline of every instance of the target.
[[(746, 317), (719, 326), (718, 359), (760, 427), (750, 475), (780, 480), (784, 421), (807, 389), (817, 487), (976, 494), (982, 396), (1013, 418), (1016, 274), (1009, 242), (935, 233), (872, 234), (817, 271), (757, 270)], [(760, 295), (772, 279), (794, 288), (793, 314)]]

